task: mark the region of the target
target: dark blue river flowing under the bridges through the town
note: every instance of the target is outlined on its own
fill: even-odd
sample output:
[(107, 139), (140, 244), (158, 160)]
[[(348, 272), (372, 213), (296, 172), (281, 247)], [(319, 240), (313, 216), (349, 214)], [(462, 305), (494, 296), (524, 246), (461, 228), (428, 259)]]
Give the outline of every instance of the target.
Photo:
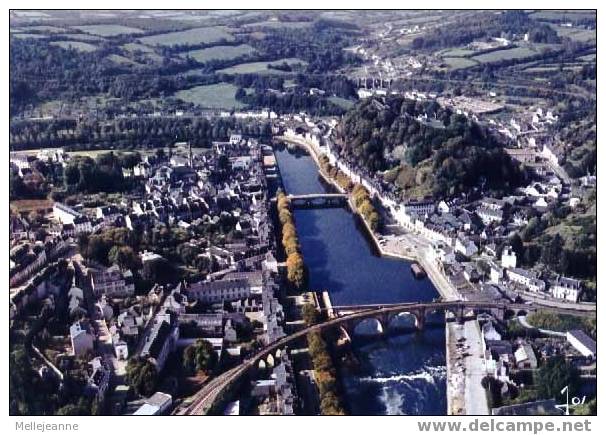
[[(328, 190), (309, 155), (282, 148), (276, 149), (276, 159), (287, 193)], [(378, 256), (348, 209), (296, 210), (295, 220), (309, 287), (327, 290), (333, 305), (429, 301), (438, 296), (428, 279), (414, 279), (410, 263)], [(373, 327), (360, 325), (360, 335), (354, 337), (359, 367), (342, 370), (351, 414), (444, 415), (444, 328), (386, 338), (363, 335)]]

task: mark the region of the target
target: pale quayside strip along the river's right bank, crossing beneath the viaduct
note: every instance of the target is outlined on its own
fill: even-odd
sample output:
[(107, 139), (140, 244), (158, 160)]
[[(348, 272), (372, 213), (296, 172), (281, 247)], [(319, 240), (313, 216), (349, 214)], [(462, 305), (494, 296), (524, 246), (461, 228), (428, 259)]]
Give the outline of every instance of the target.
[[(325, 182), (340, 193), (346, 192), (334, 179), (325, 174), (320, 164), (322, 151), (309, 141), (279, 136), (277, 140), (300, 146), (307, 150), (318, 173)], [(350, 209), (356, 209), (349, 195)], [(389, 220), (388, 216), (384, 219)], [(444, 300), (460, 300), (457, 289), (448, 282), (438, 269), (430, 254), (431, 243), (423, 237), (404, 230), (395, 223), (384, 225), (383, 234), (375, 234), (363, 218), (360, 219), (366, 232), (381, 256), (418, 262), (427, 272), (438, 293)], [(477, 320), (463, 325), (447, 322), (446, 370), (447, 370), (447, 413), (448, 415), (487, 415), (489, 414), (486, 394), (481, 386), (484, 374), (484, 355), (481, 347), (481, 335)]]

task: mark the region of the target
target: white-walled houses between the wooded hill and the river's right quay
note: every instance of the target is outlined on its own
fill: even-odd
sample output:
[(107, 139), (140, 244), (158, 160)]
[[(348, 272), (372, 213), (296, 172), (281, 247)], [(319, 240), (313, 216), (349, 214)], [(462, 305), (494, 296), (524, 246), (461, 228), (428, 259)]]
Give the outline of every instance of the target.
[[(542, 115), (541, 111), (538, 113)], [(543, 277), (538, 271), (523, 269), (511, 247), (504, 249), (500, 261), (498, 258), (498, 246), (527, 225), (530, 217), (540, 216), (560, 204), (573, 204), (575, 199), (578, 203), (569, 186), (552, 172), (539, 171), (529, 186), (501, 199), (481, 195), (472, 199), (468, 195), (465, 200), (456, 198), (449, 202), (432, 198), (401, 202), (393, 186), (338, 153), (330, 137), (333, 126), (334, 123), (323, 121), (292, 120), (285, 135), (311, 143), (353, 182), (366, 187), (402, 227), (430, 241), (428, 257), (464, 297), (482, 299), (501, 295), (510, 299), (532, 296), (566, 302), (579, 300), (583, 292), (580, 280)]]

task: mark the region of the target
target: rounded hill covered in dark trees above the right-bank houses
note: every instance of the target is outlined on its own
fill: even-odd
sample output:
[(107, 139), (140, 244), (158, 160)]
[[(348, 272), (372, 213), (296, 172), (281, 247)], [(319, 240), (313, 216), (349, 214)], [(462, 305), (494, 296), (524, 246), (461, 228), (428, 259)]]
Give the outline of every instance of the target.
[[(493, 193), (520, 185), (526, 174), (485, 127), (440, 107), (390, 97), (358, 103), (340, 126), (340, 152), (400, 188), (424, 184), (436, 197), (482, 185)], [(425, 178), (417, 177), (417, 170)]]

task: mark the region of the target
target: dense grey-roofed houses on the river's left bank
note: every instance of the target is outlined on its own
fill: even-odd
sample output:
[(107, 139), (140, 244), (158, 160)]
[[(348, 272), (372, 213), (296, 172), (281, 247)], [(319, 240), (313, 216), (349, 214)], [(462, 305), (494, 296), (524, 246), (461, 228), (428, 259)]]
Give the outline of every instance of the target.
[[(99, 401), (113, 398), (114, 391), (128, 390), (126, 385), (110, 385), (123, 378), (129, 358), (147, 359), (162, 373), (169, 358), (203, 339), (212, 344), (219, 364), (232, 364), (248, 352), (244, 341), (265, 345), (286, 334), (285, 313), (278, 300), (283, 270), (275, 259), (266, 180), (276, 173), (271, 148), (234, 134), (229, 141), (214, 143), (212, 152), (194, 156), (186, 148), (185, 154), (165, 160), (144, 158), (124, 174), (139, 179), (142, 189), (124, 195), (119, 203), (92, 209), (55, 203), (46, 227), (57, 239), (54, 244), (33, 242), (30, 234), (35, 229), (27, 228), (22, 218), (13, 219), (13, 237), (22, 244), (11, 256), (11, 286), (44, 273), (35, 285), (25, 286), (27, 295), (16, 288), (12, 315), (49, 295), (65, 294), (72, 323), (64, 357), (86, 361), (87, 391)], [(178, 226), (187, 232), (198, 222), (218, 223), (224, 216), (235, 221), (239, 236), (220, 245), (205, 244), (200, 255), (211, 259), (215, 267), (202, 280), (175, 287), (156, 284), (141, 293), (136, 270), (117, 264), (107, 267), (79, 256), (64, 260), (73, 272), (69, 283), (53, 286), (54, 275), (47, 271), (58, 273), (47, 263), (64, 252), (61, 249), (75, 248), (80, 234), (113, 227), (143, 232), (157, 225)], [(188, 243), (198, 244), (195, 233)], [(142, 265), (162, 260), (154, 252), (138, 255)], [(54, 368), (60, 372), (63, 367)], [(284, 352), (267, 369), (270, 379), (250, 386), (258, 399), (258, 412), (293, 414), (297, 396), (289, 355)], [(172, 398), (153, 397), (135, 414), (167, 412), (166, 403), (172, 403)], [(118, 408), (112, 407), (113, 412), (124, 413), (123, 406)]]

